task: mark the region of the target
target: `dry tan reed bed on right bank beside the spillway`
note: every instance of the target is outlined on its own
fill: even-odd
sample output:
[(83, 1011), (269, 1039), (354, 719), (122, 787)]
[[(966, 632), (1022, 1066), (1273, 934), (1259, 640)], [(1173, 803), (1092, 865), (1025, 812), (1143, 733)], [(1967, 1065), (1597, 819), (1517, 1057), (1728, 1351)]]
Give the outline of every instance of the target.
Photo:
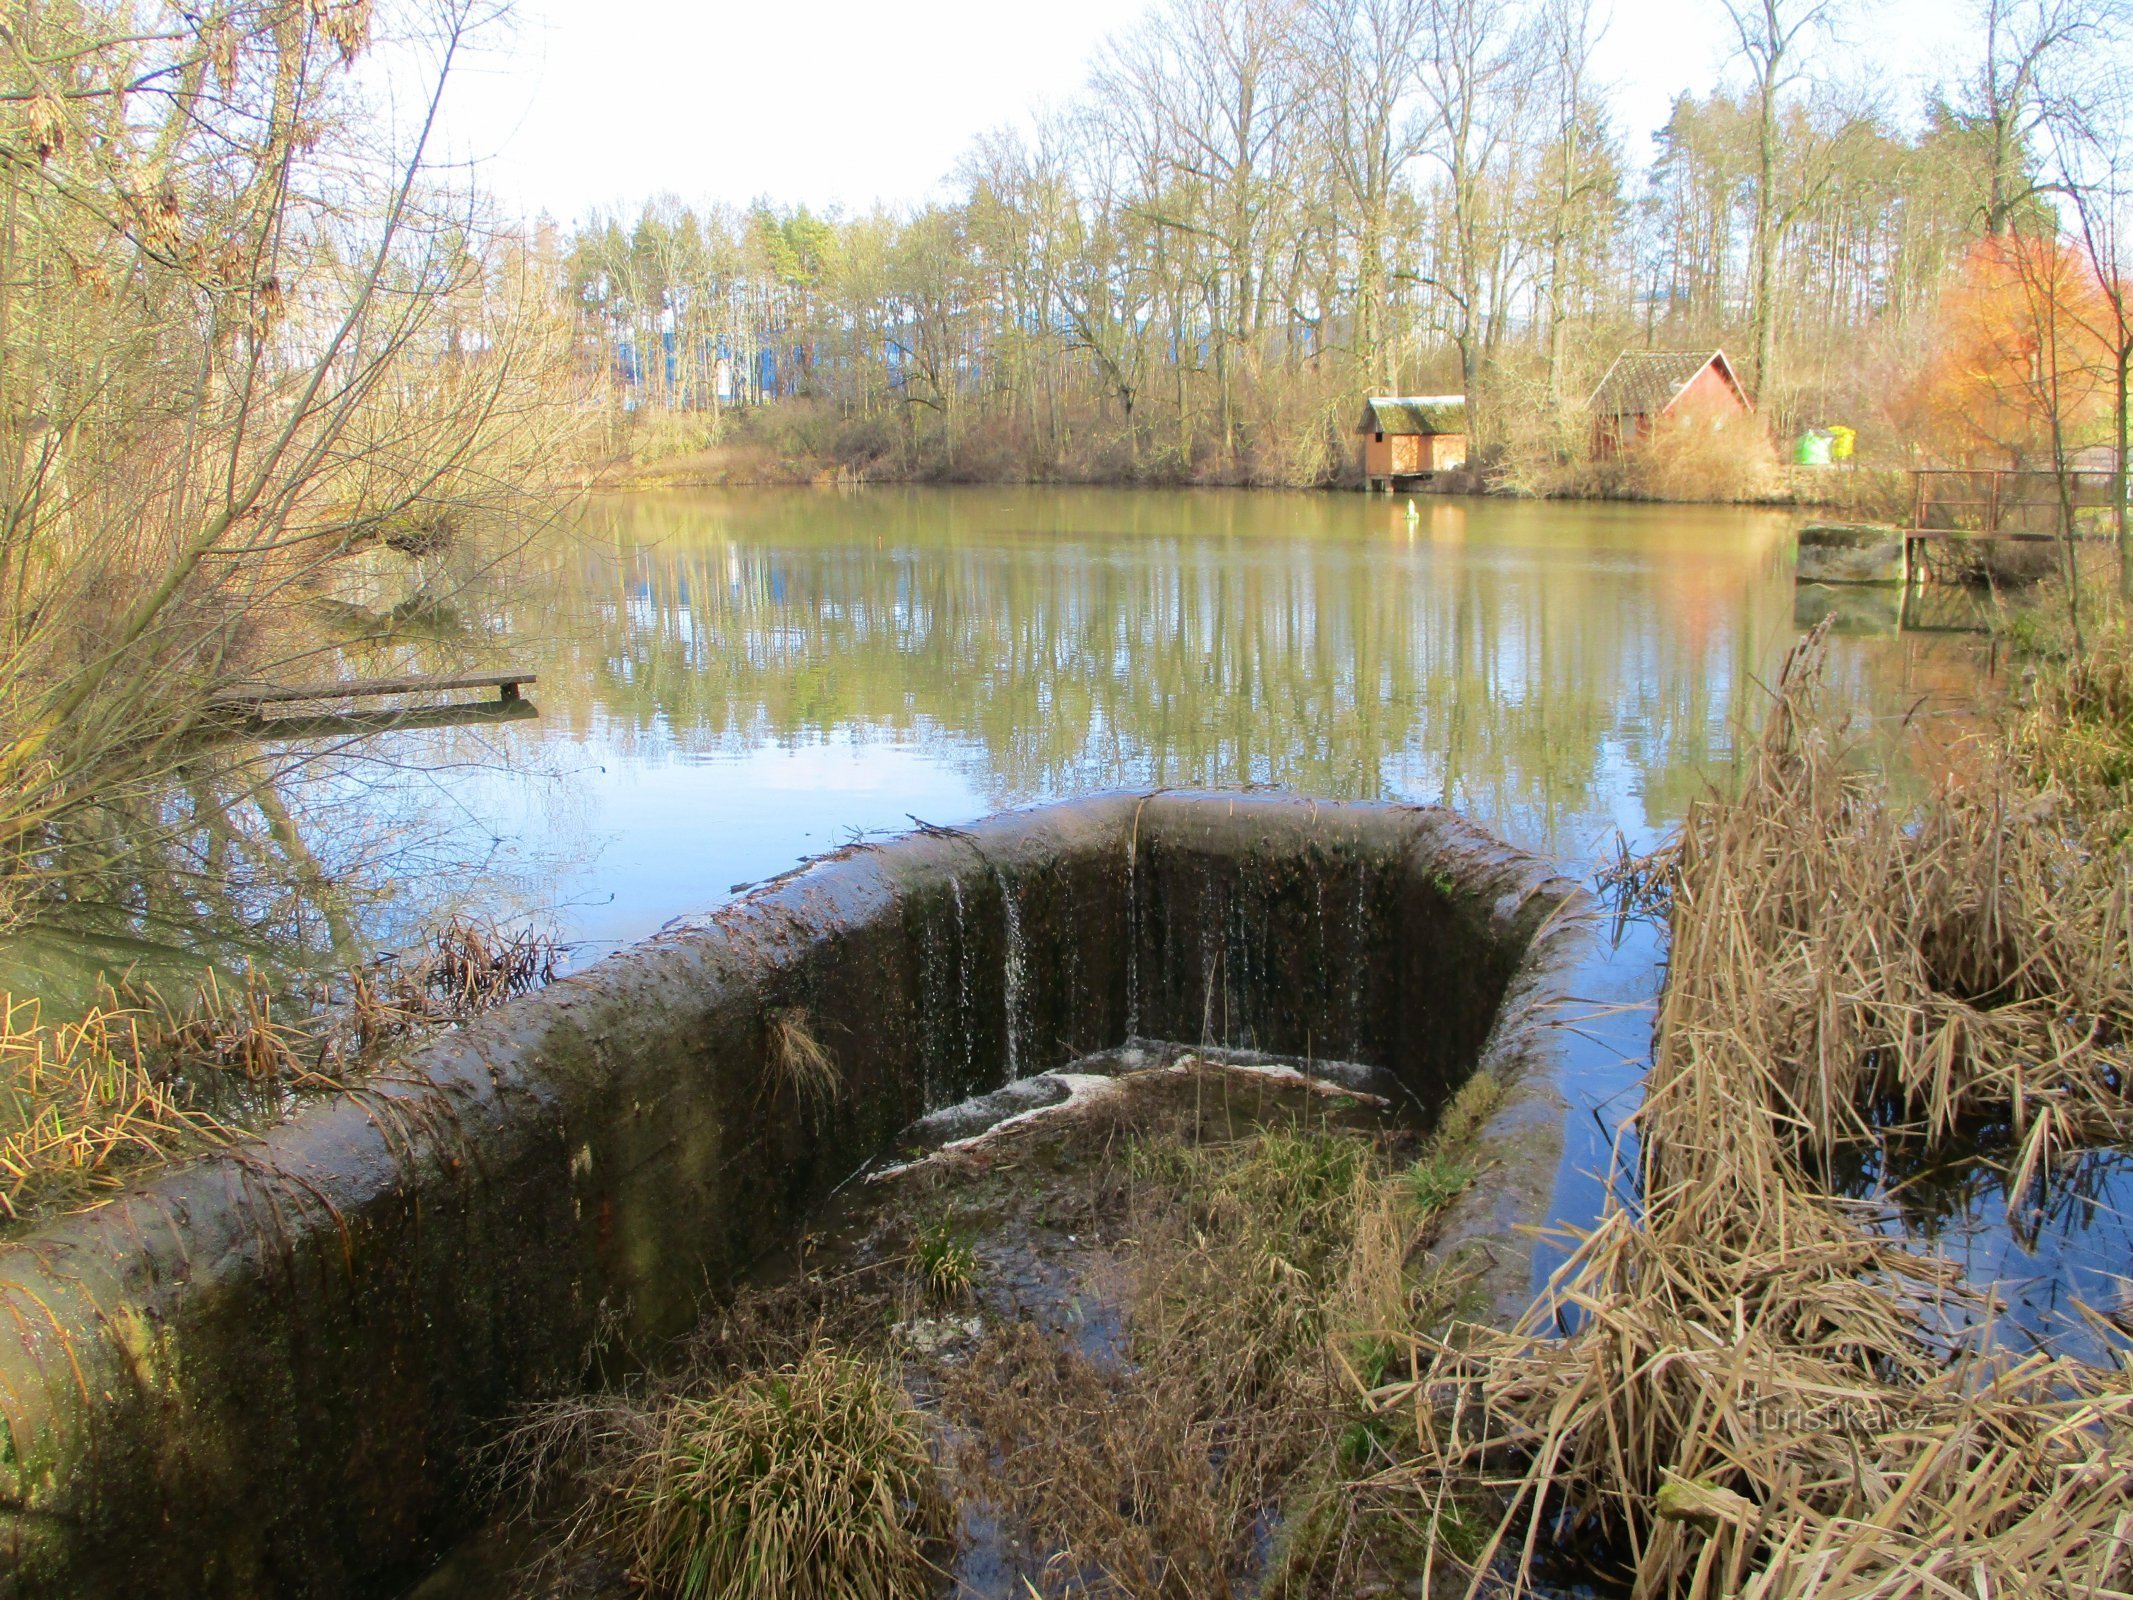
[(2016, 1195), (2127, 1135), (2127, 862), (2001, 738), (1894, 806), (1824, 715), (1822, 651), (1738, 794), (1638, 875), (1672, 958), (1636, 1197), (1517, 1329), (1410, 1335), (1369, 1393), (1412, 1453), (1359, 1495), (1499, 1498), (1472, 1594), (1566, 1547), (1640, 1600), (2133, 1583), (2133, 1370), (2001, 1350), (1947, 1265), (1830, 1186), (1892, 1131), (2001, 1129)]

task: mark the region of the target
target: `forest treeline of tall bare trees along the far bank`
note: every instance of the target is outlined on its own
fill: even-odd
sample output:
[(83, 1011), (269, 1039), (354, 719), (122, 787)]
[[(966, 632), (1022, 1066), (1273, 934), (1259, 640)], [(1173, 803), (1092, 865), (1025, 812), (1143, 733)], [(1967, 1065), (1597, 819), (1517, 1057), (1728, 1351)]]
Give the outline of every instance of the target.
[(1732, 64), (1649, 158), (1598, 0), (1158, 0), (951, 198), (591, 218), (552, 250), (608, 446), (774, 399), (744, 437), (889, 474), (1320, 482), (1363, 393), (1459, 390), (1499, 478), (1561, 489), (1619, 350), (1723, 346), (1775, 435), (1905, 461), (1979, 241), (2116, 205), (2122, 9), (1977, 0), (1907, 111), (1864, 6), (1709, 4)]

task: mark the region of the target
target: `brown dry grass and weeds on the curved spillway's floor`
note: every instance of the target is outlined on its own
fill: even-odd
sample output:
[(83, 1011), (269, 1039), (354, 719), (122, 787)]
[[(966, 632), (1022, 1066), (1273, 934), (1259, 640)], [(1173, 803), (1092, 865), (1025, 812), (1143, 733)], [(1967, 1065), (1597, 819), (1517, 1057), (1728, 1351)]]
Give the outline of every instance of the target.
[[(648, 1502), (619, 1485), (665, 1449), (674, 1397), (715, 1406), (811, 1350), (898, 1348), (1015, 1594), (1201, 1600), (1250, 1591), (1269, 1559), (1303, 1594), (1320, 1570), (1357, 1570), (1316, 1536), (1293, 1553), (1269, 1538), (1374, 1459), (1350, 1374), (1384, 1372), (1384, 1329), (1442, 1318), (1421, 1246), (1472, 1173), (1450, 1139), (1410, 1161), (1406, 1135), (1325, 1126), (1325, 1097), (1288, 1124), (1258, 1120), (1256, 1084), (1233, 1116), (1218, 1092), (1237, 1084), (1216, 1069), (1141, 1088), (907, 1171), (877, 1190), (857, 1261), (742, 1291), (640, 1391), (533, 1412), (503, 1481), (535, 1519), (561, 1517), (552, 1559), (604, 1547), (672, 1591), (638, 1555)], [(1476, 1079), (1446, 1131), (1470, 1137), (1497, 1094)], [(1094, 1325), (1043, 1295), (1022, 1306), (1024, 1231), (1081, 1239)], [(941, 1340), (951, 1327), (968, 1331)]]

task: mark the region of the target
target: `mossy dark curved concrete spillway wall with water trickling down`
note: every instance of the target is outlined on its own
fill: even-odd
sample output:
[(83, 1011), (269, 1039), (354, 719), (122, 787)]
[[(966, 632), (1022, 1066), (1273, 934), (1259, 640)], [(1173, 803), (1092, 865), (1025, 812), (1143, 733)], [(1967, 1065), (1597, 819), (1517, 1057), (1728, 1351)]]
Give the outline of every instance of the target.
[[(1448, 1248), (1514, 1306), (1581, 896), (1438, 809), (1113, 794), (823, 858), (0, 1250), (0, 1596), (384, 1596), (471, 1451), (657, 1348), (928, 1109), (1126, 1037), (1510, 1086)], [(798, 1020), (828, 1105), (776, 1069)]]

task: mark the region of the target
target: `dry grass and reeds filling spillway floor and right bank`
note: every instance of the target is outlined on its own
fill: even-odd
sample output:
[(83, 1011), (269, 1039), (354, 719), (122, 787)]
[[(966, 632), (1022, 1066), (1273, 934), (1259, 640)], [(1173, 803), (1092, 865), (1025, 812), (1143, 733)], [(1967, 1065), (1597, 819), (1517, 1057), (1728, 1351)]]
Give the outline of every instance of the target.
[[(1610, 875), (1668, 926), (1653, 1065), (1517, 1327), (1463, 1321), (1427, 1252), (1489, 1082), (1395, 1161), (1239, 1131), (1229, 1090), (1188, 1122), (1111, 1097), (900, 1169), (870, 1257), (802, 1254), (523, 1412), (495, 1453), (523, 1581), (917, 1598), (1005, 1532), (1039, 1600), (2122, 1591), (2127, 1308), (2084, 1308), (2090, 1355), (2024, 1348), (1883, 1218), (1935, 1152), (1984, 1152), (2022, 1212), (2133, 1137), (2129, 661), (2122, 619), (2046, 659), (1898, 802), (1824, 706), (1824, 631), (1794, 649), (1736, 787)], [(1090, 1252), (1052, 1293), (1116, 1297), (1094, 1355), (1079, 1312), (973, 1293), (1028, 1218)]]

